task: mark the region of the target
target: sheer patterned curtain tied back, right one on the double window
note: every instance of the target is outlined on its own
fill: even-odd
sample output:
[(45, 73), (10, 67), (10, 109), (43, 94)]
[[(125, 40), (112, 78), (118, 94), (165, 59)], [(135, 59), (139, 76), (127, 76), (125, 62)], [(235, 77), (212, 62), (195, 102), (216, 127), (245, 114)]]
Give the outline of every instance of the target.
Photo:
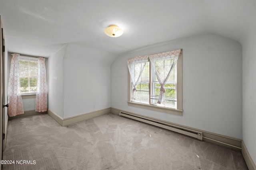
[(181, 49), (178, 49), (178, 50), (167, 51), (164, 53), (158, 53), (158, 54), (148, 56), (154, 68), (156, 78), (161, 86), (160, 94), (157, 102), (158, 104), (164, 103), (164, 94), (165, 94), (164, 85), (167, 82), (176, 64), (176, 61), (180, 55), (180, 52), (181, 52)]

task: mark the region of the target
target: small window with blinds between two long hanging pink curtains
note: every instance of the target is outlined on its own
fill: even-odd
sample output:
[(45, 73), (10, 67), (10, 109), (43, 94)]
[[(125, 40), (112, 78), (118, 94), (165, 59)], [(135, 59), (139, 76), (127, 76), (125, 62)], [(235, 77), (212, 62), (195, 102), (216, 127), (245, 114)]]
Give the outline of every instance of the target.
[(37, 86), (38, 60), (19, 57), (19, 78), (21, 94), (35, 94)]

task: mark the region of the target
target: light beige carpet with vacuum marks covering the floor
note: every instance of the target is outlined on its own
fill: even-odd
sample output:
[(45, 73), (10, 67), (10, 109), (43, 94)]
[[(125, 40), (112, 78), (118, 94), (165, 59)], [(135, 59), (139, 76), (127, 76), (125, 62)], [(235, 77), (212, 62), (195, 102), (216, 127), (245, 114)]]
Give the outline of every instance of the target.
[(68, 127), (48, 114), (12, 119), (3, 160), (15, 161), (4, 170), (247, 169), (241, 152), (112, 113)]

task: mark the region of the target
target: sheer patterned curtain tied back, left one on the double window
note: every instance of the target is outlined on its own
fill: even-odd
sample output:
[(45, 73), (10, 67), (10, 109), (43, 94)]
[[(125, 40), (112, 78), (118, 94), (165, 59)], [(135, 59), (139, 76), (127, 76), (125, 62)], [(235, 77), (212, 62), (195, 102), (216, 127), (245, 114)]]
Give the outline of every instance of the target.
[(148, 56), (138, 56), (127, 60), (133, 86), (131, 101), (136, 99), (137, 84), (145, 68), (146, 62), (148, 62)]

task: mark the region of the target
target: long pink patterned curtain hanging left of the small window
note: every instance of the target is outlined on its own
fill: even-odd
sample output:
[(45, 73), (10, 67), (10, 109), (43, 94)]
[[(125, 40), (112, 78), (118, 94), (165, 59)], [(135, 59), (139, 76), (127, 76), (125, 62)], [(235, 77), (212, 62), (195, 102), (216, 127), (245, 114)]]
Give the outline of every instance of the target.
[(8, 88), (8, 115), (10, 117), (24, 114), (22, 98), (20, 95), (19, 54), (12, 54), (9, 88)]

